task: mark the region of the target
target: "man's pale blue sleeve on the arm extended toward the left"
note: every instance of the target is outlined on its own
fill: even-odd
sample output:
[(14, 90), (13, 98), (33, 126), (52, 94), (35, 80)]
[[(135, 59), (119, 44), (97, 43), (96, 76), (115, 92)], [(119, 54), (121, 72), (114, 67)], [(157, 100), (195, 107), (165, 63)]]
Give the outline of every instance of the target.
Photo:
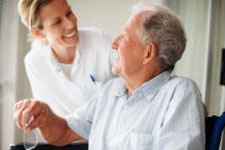
[(82, 108), (65, 117), (68, 126), (86, 140), (88, 140), (90, 136), (97, 97), (97, 94), (92, 96), (88, 103), (86, 103)]

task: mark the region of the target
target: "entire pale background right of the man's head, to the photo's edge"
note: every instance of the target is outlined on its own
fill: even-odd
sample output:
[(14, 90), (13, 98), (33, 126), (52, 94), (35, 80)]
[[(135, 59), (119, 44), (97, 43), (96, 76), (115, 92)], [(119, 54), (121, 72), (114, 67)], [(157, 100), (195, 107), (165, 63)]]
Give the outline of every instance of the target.
[(225, 110), (225, 90), (219, 85), (221, 49), (225, 46), (224, 0), (169, 0), (187, 32), (187, 48), (176, 72), (195, 80), (209, 115)]

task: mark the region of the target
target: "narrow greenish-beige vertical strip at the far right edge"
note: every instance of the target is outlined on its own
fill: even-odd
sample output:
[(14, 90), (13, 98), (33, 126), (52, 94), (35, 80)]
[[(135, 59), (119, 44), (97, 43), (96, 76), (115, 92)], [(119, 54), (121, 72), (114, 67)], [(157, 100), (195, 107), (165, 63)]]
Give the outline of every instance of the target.
[(212, 3), (208, 106), (211, 114), (225, 111), (225, 86), (220, 83), (221, 49), (225, 48), (225, 1)]

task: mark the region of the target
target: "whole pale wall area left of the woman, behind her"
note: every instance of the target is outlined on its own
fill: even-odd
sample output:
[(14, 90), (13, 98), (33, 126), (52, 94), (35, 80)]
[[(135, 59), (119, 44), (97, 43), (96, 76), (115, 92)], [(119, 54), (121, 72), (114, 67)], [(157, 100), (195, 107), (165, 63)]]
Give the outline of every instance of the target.
[(23, 57), (28, 50), (27, 30), (20, 24), (17, 1), (4, 0), (0, 32), (0, 150), (9, 150), (22, 136), (13, 122), (14, 104), (30, 97)]

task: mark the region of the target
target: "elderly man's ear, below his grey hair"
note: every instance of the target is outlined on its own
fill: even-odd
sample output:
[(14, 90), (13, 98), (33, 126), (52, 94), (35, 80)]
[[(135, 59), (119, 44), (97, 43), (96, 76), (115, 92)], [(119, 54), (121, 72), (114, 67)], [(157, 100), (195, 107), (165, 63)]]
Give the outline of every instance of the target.
[(157, 56), (156, 45), (151, 42), (146, 46), (143, 64), (148, 64), (154, 58), (156, 58), (156, 56)]

